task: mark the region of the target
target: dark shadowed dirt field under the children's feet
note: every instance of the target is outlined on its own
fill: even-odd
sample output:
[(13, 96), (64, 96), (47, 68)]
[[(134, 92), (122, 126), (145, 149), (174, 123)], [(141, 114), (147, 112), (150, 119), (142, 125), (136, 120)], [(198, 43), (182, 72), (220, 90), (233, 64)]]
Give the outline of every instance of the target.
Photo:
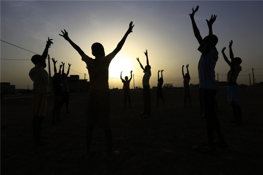
[(64, 121), (57, 125), (51, 124), (53, 97), (48, 97), (42, 135), (51, 143), (43, 146), (34, 146), (32, 141), (32, 98), (4, 99), (1, 175), (262, 174), (263, 89), (240, 89), (244, 127), (231, 126), (233, 112), (227, 91), (218, 90), (217, 116), (229, 148), (217, 148), (214, 155), (192, 150), (192, 146), (207, 141), (205, 119), (199, 118), (198, 89), (191, 90), (192, 108), (182, 107), (182, 90), (163, 94), (166, 107), (161, 100), (155, 107), (156, 91), (151, 91), (152, 117), (144, 119), (139, 116), (143, 112), (142, 91), (131, 91), (131, 109), (124, 108), (122, 92), (111, 93), (113, 149), (121, 152), (113, 161), (106, 159), (104, 131), (99, 128), (94, 129), (93, 158), (84, 159), (88, 93), (70, 95), (72, 114), (66, 115), (64, 106)]

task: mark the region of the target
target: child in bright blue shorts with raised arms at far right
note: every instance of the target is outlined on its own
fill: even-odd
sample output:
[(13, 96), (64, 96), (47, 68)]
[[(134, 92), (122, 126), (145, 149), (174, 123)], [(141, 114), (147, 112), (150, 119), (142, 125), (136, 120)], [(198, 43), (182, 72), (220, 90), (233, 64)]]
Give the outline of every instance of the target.
[(228, 60), (226, 54), (224, 53), (224, 50), (226, 49), (225, 47), (222, 49), (222, 54), (224, 60), (230, 66), (230, 70), (227, 73), (226, 82), (227, 82), (229, 105), (232, 105), (234, 117), (235, 117), (234, 120), (231, 122), (235, 123), (234, 126), (240, 127), (243, 126), (243, 124), (241, 121), (241, 108), (239, 106), (239, 101), (238, 101), (239, 85), (236, 83), (236, 79), (238, 78), (239, 72), (242, 70), (242, 67), (240, 66), (242, 60), (239, 57), (234, 57), (232, 51), (232, 44), (233, 41), (231, 40), (231, 42), (229, 42), (229, 55), (231, 62)]

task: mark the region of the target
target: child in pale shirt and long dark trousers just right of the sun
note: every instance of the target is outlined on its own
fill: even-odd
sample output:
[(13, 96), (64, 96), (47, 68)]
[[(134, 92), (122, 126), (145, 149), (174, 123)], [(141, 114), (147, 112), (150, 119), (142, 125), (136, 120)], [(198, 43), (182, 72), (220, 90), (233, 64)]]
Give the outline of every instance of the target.
[(150, 84), (149, 84), (149, 80), (151, 77), (151, 66), (149, 65), (149, 60), (148, 60), (148, 52), (146, 49), (146, 52), (144, 52), (144, 54), (146, 55), (146, 63), (147, 65), (145, 67), (143, 67), (143, 65), (141, 64), (139, 57), (136, 58), (137, 61), (139, 62), (142, 70), (143, 70), (143, 102), (144, 102), (144, 112), (141, 113), (141, 115), (144, 118), (149, 118), (151, 117), (151, 95), (150, 95)]

